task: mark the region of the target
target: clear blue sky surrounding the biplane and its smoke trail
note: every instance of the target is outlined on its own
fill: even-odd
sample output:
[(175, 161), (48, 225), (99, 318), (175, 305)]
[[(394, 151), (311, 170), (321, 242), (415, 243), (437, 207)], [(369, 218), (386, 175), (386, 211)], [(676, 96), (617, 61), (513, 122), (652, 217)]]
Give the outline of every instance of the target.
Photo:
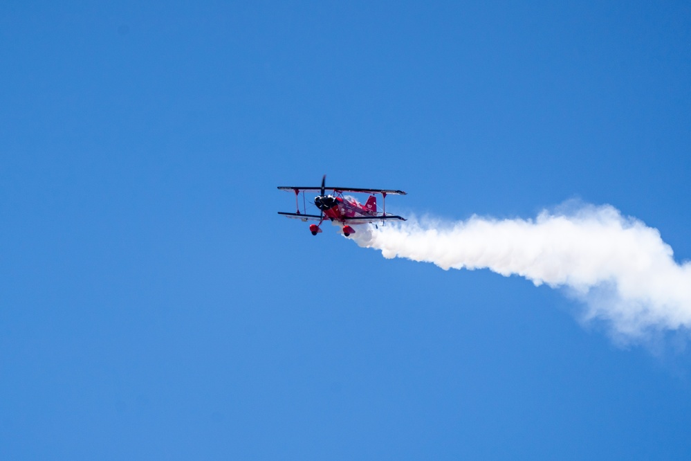
[(276, 215), (580, 198), (691, 259), (688, 2), (59, 3), (0, 5), (0, 458), (689, 458), (685, 341)]

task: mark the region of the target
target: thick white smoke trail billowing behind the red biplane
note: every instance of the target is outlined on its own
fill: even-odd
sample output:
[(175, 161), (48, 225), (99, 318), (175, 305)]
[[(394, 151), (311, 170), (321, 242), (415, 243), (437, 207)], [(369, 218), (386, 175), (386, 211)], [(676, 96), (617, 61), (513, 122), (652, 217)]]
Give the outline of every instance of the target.
[(657, 229), (612, 206), (545, 210), (535, 220), (411, 219), (353, 237), (387, 258), (486, 268), (564, 287), (584, 301), (584, 320), (605, 320), (618, 341), (691, 327), (691, 263), (677, 264)]

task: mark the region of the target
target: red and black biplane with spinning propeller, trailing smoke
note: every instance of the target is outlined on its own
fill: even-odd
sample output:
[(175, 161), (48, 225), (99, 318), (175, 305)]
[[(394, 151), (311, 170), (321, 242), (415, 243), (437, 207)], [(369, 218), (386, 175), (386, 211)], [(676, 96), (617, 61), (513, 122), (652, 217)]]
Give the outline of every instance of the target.
[[(279, 211), (279, 215), (285, 217), (300, 219), (303, 222), (318, 221), (318, 224), (310, 224), (309, 230), (312, 235), (322, 232), (320, 226), (324, 219), (329, 219), (331, 222), (338, 222), (343, 229), (343, 235), (348, 237), (355, 233), (355, 229), (351, 226), (357, 224), (376, 224), (378, 222), (385, 223), (387, 221), (405, 221), (405, 218), (396, 215), (387, 215), (386, 213), (386, 196), (387, 195), (405, 195), (403, 190), (390, 189), (360, 189), (360, 188), (333, 188), (326, 187), (326, 174), (322, 178), (321, 187), (297, 187), (297, 186), (280, 186), (279, 190), (292, 190), (295, 192), (295, 213), (284, 213)], [(333, 195), (326, 195), (326, 190), (333, 191)], [(300, 193), (302, 192), (302, 212), (300, 211)], [(310, 215), (307, 213), (307, 205), (305, 200), (305, 192), (319, 192), (319, 195), (314, 198), (314, 206), (320, 211), (319, 215)], [(362, 192), (370, 194), (364, 205), (359, 201), (343, 195), (344, 192)], [(382, 211), (379, 212), (377, 208), (376, 195), (382, 196)]]

